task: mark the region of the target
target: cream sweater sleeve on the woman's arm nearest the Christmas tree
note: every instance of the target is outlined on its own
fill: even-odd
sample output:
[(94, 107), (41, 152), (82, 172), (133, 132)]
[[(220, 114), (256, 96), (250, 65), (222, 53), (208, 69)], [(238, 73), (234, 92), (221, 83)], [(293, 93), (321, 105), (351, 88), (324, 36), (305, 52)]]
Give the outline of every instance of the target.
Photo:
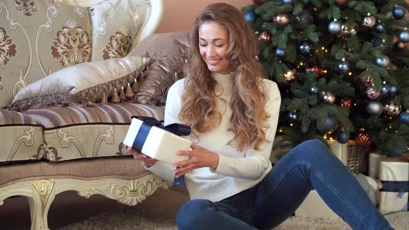
[(263, 175), (270, 164), (270, 154), (272, 150), (272, 142), (275, 138), (277, 123), (279, 118), (279, 108), (281, 104), (281, 96), (275, 82), (265, 80), (268, 100), (266, 103), (266, 112), (270, 114), (270, 118), (266, 121), (269, 125), (266, 130), (266, 139), (268, 142), (261, 144), (259, 150), (247, 150), (245, 157), (228, 157), (219, 154), (219, 161), (216, 170), (212, 172), (229, 177), (238, 177), (245, 179), (259, 178)]

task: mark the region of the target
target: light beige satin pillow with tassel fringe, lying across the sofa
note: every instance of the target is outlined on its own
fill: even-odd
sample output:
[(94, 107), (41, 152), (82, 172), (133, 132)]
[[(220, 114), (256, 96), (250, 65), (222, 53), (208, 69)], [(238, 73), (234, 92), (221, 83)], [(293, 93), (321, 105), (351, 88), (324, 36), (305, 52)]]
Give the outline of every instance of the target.
[(10, 110), (46, 107), (64, 103), (98, 102), (127, 87), (141, 76), (147, 57), (112, 58), (61, 69), (24, 87), (15, 96)]

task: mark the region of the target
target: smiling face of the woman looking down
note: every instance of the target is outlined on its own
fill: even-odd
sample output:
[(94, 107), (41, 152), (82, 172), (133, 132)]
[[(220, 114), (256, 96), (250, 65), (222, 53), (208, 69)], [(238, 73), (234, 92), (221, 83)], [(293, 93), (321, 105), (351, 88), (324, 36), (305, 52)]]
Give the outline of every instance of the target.
[(199, 27), (199, 51), (209, 71), (230, 73), (228, 47), (229, 30), (225, 26), (209, 21)]

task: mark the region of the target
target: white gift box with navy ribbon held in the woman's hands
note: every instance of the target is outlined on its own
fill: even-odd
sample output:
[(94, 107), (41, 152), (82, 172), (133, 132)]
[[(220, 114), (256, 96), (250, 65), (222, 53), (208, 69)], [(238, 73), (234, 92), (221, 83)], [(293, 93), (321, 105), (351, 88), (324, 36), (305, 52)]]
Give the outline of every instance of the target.
[(181, 136), (189, 136), (190, 132), (190, 127), (187, 125), (164, 126), (155, 118), (132, 116), (132, 123), (123, 144), (132, 146), (134, 150), (153, 159), (173, 164), (188, 158), (177, 155), (177, 151), (189, 150), (191, 141)]

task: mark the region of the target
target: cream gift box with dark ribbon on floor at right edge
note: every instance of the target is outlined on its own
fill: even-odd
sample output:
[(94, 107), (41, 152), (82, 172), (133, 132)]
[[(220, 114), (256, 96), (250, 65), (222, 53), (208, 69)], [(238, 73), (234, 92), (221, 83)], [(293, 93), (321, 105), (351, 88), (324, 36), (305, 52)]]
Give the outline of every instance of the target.
[(381, 213), (408, 211), (409, 161), (403, 157), (385, 157), (379, 161), (378, 209)]

